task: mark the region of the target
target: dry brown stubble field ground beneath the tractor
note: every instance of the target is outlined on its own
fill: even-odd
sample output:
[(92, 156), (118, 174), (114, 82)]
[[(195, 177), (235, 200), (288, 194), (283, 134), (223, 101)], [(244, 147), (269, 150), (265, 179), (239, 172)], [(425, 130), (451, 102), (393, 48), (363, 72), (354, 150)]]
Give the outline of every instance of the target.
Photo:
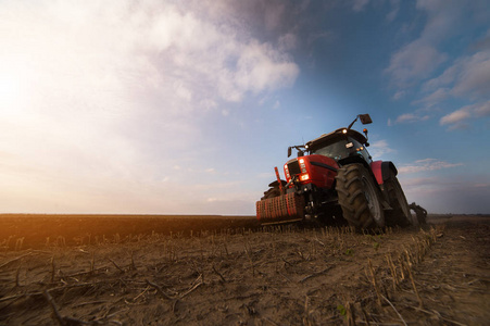
[[(22, 218), (34, 220), (18, 228)], [(490, 321), (490, 216), (429, 216), (423, 228), (378, 234), (260, 228), (246, 217), (225, 228), (216, 216), (186, 227), (133, 217), (118, 229), (112, 216), (91, 220), (112, 226), (100, 235), (87, 221), (80, 230), (67, 216), (42, 218), (0, 216), (0, 325)], [(205, 218), (214, 226), (202, 228)]]

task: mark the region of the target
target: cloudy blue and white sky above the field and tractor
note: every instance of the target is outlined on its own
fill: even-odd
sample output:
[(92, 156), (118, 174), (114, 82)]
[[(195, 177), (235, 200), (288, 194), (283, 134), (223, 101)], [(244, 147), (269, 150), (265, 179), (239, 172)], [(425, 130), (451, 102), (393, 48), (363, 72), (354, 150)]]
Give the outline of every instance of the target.
[(253, 215), (288, 146), (369, 113), (409, 202), (490, 213), (489, 22), (486, 0), (0, 0), (0, 212)]

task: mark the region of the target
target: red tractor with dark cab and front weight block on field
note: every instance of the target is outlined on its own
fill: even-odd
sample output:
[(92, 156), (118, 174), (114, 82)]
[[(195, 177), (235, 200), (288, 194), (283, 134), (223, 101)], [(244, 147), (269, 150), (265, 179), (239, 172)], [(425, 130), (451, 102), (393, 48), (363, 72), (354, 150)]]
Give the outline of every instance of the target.
[(276, 170), (277, 180), (256, 202), (262, 224), (316, 220), (324, 224), (349, 224), (356, 229), (417, 225), (389, 161), (373, 161), (366, 148), (367, 129), (351, 129), (361, 120), (370, 124), (368, 114), (360, 114), (347, 128), (324, 134), (298, 150), (298, 158), (284, 165), (286, 180)]

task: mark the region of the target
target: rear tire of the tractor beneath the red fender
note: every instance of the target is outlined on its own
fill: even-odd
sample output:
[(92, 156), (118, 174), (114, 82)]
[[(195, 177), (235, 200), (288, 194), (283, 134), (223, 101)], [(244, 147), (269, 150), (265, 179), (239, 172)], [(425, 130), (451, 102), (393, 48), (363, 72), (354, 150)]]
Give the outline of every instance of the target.
[(387, 225), (402, 227), (417, 226), (418, 221), (415, 216), (412, 216), (405, 193), (393, 172), (391, 172), (390, 178), (385, 181), (385, 187), (388, 190), (388, 199), (392, 209), (386, 213)]

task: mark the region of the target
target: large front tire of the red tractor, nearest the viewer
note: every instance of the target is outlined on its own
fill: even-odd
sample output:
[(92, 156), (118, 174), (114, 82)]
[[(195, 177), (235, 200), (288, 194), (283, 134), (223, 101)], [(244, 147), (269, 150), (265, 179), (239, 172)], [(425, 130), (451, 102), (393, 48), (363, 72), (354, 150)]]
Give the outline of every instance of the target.
[(357, 230), (385, 226), (380, 191), (364, 165), (345, 165), (336, 176), (336, 190), (343, 218)]

